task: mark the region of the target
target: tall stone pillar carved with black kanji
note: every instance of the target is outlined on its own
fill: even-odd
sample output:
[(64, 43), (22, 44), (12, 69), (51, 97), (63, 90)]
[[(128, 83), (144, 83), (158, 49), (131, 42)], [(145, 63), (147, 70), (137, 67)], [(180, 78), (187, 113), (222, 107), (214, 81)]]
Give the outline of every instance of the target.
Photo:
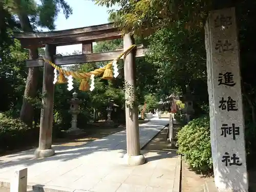
[(234, 8), (205, 24), (211, 153), (218, 191), (248, 191), (239, 43)]

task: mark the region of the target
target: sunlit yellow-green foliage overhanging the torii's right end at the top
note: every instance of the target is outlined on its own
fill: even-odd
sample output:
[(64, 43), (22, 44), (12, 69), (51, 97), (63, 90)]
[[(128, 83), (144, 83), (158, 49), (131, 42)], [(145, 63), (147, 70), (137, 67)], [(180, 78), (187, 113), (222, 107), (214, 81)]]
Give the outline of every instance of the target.
[(173, 26), (183, 22), (185, 28), (202, 28), (203, 22), (211, 9), (211, 0), (193, 1), (134, 1), (134, 0), (95, 0), (97, 5), (112, 7), (117, 4), (120, 9), (110, 11), (110, 18), (125, 31), (148, 35), (156, 29)]

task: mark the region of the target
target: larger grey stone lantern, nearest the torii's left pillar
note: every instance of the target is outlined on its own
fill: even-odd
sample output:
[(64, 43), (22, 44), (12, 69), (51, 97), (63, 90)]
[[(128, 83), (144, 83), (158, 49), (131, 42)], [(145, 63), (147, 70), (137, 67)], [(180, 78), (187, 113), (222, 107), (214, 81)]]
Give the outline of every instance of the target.
[(70, 111), (72, 115), (72, 120), (71, 120), (71, 128), (68, 130), (69, 132), (71, 131), (79, 131), (80, 129), (77, 127), (77, 115), (80, 113), (79, 110), (79, 104), (81, 104), (81, 100), (77, 98), (77, 93), (73, 93), (73, 98), (70, 101)]

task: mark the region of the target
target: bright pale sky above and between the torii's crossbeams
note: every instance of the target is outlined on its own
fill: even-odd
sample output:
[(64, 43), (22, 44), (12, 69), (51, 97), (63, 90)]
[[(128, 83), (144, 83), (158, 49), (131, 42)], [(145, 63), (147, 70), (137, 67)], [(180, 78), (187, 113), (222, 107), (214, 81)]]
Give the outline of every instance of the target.
[[(95, 5), (91, 0), (66, 0), (66, 2), (72, 7), (73, 14), (66, 19), (62, 12), (60, 12), (55, 21), (56, 31), (109, 23), (109, 14), (107, 12), (109, 9), (106, 7)], [(74, 51), (81, 52), (82, 45), (57, 47), (57, 53), (61, 54), (71, 54)]]

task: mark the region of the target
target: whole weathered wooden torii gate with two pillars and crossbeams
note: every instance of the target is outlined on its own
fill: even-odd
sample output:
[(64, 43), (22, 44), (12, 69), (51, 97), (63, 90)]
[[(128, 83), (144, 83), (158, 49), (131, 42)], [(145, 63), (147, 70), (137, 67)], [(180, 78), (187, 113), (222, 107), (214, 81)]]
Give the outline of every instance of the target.
[[(111, 40), (122, 37), (122, 33), (113, 24), (103, 24), (78, 29), (69, 29), (52, 32), (22, 32), (15, 33), (14, 37), (20, 40), (23, 48), (42, 48), (45, 47), (45, 56), (55, 63), (55, 65), (70, 65), (74, 63), (86, 63), (96, 61), (113, 60), (120, 55), (123, 50), (134, 45), (134, 38), (131, 34), (123, 35), (123, 50), (93, 53), (92, 42)], [(82, 44), (81, 55), (56, 56), (56, 46), (66, 46)], [(144, 56), (145, 48), (137, 47), (124, 58), (124, 80), (129, 83), (133, 89), (136, 85), (135, 76), (135, 57)], [(53, 124), (53, 100), (54, 100), (54, 68), (45, 62), (42, 58), (26, 60), (27, 67), (44, 67), (44, 79), (42, 92), (46, 93), (42, 100), (39, 146), (35, 151), (36, 157), (49, 157), (54, 155), (52, 148), (52, 124)], [(39, 78), (39, 77), (38, 77)], [(129, 88), (131, 89), (131, 88)], [(135, 101), (135, 94), (128, 96), (127, 88), (125, 88), (125, 100)], [(126, 144), (127, 154), (124, 156), (127, 164), (139, 165), (143, 164), (145, 159), (140, 154), (139, 142), (139, 126), (138, 126), (138, 106), (133, 107), (125, 105), (126, 118)]]

